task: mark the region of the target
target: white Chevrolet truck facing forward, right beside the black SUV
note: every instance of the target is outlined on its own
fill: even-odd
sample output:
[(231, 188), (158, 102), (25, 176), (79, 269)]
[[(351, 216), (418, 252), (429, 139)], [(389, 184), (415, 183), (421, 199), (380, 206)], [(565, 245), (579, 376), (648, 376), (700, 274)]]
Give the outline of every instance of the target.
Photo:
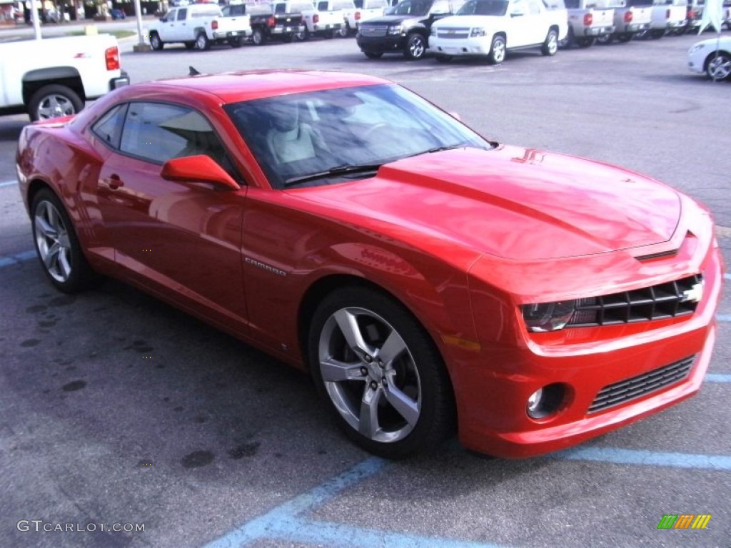
[(507, 50), (540, 47), (543, 55), (556, 55), (567, 34), (566, 9), (549, 9), (542, 0), (468, 0), (431, 26), (429, 48), (438, 61), (486, 56), (500, 64)]

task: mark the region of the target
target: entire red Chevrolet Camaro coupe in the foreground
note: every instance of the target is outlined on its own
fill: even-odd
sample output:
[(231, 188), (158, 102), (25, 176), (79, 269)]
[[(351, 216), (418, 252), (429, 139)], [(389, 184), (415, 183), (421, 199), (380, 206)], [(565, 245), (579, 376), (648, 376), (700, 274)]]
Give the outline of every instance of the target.
[(309, 370), (376, 454), (455, 430), (554, 451), (693, 395), (711, 359), (708, 210), (375, 77), (131, 85), (23, 129), (17, 163), (54, 286), (120, 278)]

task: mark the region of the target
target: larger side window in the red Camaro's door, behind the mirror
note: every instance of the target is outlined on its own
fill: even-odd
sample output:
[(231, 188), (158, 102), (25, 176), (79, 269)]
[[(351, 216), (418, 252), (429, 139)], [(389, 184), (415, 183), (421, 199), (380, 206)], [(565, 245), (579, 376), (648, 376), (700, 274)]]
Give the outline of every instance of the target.
[(200, 113), (173, 104), (129, 104), (121, 151), (156, 164), (171, 158), (205, 154), (221, 167), (230, 162), (219, 137)]

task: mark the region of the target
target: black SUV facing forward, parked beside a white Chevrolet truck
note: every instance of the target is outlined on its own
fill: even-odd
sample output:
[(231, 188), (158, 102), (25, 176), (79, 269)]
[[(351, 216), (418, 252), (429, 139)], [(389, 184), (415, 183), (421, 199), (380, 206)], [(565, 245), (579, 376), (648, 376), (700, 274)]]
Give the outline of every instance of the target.
[(358, 47), (369, 59), (384, 53), (404, 53), (420, 59), (429, 47), (429, 31), (437, 19), (454, 14), (463, 0), (403, 0), (387, 9), (383, 17), (358, 25)]

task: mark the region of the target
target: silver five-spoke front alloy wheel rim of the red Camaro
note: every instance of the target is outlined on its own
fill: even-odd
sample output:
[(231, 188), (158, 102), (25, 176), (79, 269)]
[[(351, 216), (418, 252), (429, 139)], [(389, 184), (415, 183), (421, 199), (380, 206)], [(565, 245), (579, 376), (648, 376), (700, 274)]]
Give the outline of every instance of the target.
[(327, 395), (354, 430), (393, 443), (417, 425), (419, 372), (404, 338), (366, 308), (341, 308), (319, 335), (319, 370)]

